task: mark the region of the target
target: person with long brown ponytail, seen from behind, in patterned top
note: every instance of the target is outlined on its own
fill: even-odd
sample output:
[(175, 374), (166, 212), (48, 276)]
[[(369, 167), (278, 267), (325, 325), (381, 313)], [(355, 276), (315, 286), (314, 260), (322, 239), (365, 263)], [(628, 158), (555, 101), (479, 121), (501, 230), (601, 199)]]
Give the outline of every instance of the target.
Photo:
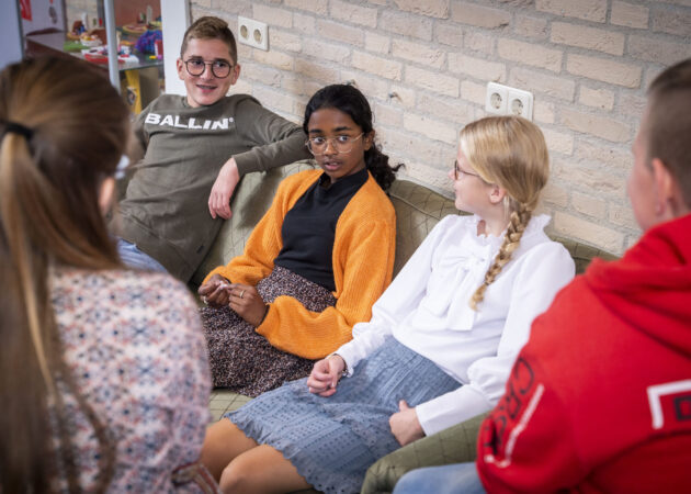
[(104, 221), (128, 116), (84, 61), (0, 72), (2, 493), (215, 489), (195, 463), (209, 418), (195, 304), (168, 274), (123, 268)]

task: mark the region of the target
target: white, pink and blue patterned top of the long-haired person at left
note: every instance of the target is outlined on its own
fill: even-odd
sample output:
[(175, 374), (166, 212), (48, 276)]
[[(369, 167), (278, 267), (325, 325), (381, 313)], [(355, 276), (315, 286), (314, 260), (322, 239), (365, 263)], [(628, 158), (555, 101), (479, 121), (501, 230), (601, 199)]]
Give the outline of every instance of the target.
[[(109, 491), (203, 492), (179, 475), (173, 482), (175, 469), (197, 461), (211, 420), (206, 347), (185, 287), (168, 274), (73, 268), (54, 269), (50, 282), (65, 360), (116, 445)], [(90, 492), (98, 441), (75, 397), (58, 389)]]

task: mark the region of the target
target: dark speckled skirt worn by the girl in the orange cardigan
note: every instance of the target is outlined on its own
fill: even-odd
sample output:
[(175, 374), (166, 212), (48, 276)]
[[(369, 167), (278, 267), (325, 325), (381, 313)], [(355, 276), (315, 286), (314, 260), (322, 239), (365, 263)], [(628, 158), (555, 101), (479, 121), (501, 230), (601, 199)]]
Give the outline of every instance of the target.
[[(257, 291), (267, 303), (287, 295), (313, 312), (336, 305), (329, 290), (280, 266), (257, 283)], [(230, 307), (200, 312), (215, 388), (253, 397), (311, 371), (314, 360), (274, 348)]]

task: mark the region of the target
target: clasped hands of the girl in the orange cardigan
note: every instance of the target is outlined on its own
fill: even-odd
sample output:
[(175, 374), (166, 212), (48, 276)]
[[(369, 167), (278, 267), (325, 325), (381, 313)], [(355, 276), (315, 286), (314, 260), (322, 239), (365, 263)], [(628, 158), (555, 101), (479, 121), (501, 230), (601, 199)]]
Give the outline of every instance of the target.
[(228, 305), (254, 327), (261, 324), (268, 311), (267, 304), (254, 287), (231, 283), (220, 274), (212, 276), (200, 287), (197, 293), (212, 307)]

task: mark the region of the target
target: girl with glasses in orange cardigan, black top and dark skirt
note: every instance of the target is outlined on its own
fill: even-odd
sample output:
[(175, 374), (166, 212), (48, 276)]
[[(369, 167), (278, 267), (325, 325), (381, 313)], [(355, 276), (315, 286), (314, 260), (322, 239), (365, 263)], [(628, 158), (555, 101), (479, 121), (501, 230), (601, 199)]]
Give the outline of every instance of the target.
[(250, 396), (309, 374), (392, 280), (395, 170), (374, 145), (366, 99), (326, 87), (303, 126), (320, 169), (286, 178), (245, 254), (199, 290), (214, 385)]

